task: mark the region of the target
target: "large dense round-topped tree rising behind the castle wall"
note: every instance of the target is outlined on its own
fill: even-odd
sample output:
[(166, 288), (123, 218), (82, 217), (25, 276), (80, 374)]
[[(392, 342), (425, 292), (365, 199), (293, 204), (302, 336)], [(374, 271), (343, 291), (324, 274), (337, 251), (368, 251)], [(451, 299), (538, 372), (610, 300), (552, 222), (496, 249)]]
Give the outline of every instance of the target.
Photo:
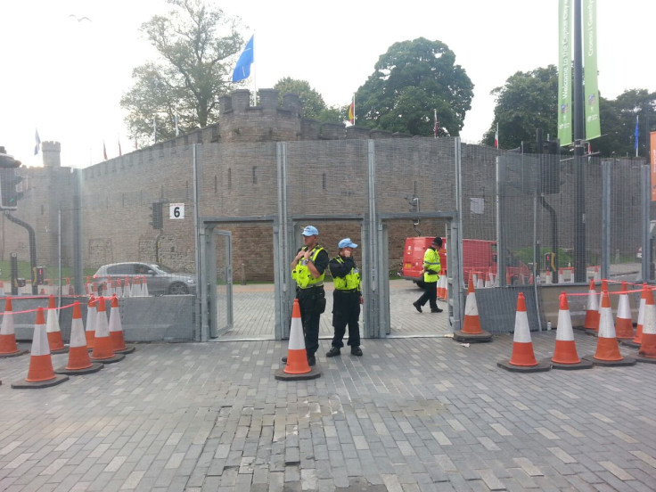
[(395, 43), (381, 55), (365, 84), (357, 89), (357, 125), (411, 135), (459, 135), (471, 109), (473, 84), (455, 64), (455, 53), (423, 37)]

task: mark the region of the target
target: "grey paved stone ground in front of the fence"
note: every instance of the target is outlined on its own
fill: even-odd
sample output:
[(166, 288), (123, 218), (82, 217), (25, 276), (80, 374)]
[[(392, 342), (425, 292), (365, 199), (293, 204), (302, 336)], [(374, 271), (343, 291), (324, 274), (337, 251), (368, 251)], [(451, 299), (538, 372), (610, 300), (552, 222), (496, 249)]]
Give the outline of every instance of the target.
[(275, 340), (140, 344), (48, 389), (0, 359), (0, 490), (656, 489), (656, 365), (509, 373), (509, 335), (321, 344), (310, 381), (275, 380)]

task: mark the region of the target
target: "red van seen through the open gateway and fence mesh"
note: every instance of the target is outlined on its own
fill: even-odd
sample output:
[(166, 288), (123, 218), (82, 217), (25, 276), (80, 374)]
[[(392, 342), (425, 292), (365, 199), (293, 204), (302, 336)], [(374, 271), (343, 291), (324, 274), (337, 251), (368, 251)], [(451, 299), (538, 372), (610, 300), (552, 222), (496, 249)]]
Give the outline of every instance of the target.
[[(403, 251), (403, 268), (401, 277), (412, 280), (423, 287), (422, 264), (423, 254), (430, 247), (434, 236), (408, 237)], [(442, 270), (447, 270), (447, 241), (442, 238), (442, 248), (439, 250), (439, 262)], [(529, 267), (524, 263), (511, 262), (506, 266), (506, 271), (511, 275), (511, 282), (516, 283), (520, 275), (529, 278)], [(489, 273), (496, 275), (496, 242), (480, 239), (463, 239), (463, 275), (464, 283), (469, 282), (471, 274), (482, 275), (484, 278)]]

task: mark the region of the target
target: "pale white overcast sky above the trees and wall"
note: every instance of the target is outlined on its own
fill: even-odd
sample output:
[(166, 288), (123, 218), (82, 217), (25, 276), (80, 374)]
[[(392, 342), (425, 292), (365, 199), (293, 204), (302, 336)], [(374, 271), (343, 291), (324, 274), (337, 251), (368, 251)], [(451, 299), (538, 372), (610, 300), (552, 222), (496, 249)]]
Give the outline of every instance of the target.
[[(474, 84), (461, 134), (471, 143), (493, 123), (490, 91), (518, 70), (556, 64), (558, 55), (557, 0), (217, 4), (242, 19), (244, 40), (255, 33), (251, 90), (299, 78), (329, 105), (347, 104), (390, 45), (442, 41)], [(597, 5), (601, 94), (656, 91), (650, 61), (656, 1)], [(124, 154), (132, 151), (119, 100), (132, 85), (132, 69), (155, 56), (139, 27), (168, 8), (164, 0), (0, 2), (0, 145), (28, 166), (41, 165), (41, 155), (34, 156), (37, 129), (42, 141), (61, 143), (62, 166), (101, 161), (103, 141), (110, 158), (119, 141)]]

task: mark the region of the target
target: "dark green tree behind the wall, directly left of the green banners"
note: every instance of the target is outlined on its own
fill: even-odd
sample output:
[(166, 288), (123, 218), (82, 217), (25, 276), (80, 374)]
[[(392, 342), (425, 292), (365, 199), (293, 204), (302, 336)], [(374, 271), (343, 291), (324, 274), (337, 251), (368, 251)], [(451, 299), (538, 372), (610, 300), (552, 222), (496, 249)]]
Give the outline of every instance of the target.
[[(529, 72), (518, 71), (505, 85), (490, 93), (496, 96), (495, 119), (482, 143), (494, 145), (496, 124), (499, 125), (499, 148), (508, 150), (522, 142), (534, 143), (536, 129), (543, 138), (557, 138), (558, 70), (554, 65)], [(534, 145), (531, 152), (535, 152)]]

